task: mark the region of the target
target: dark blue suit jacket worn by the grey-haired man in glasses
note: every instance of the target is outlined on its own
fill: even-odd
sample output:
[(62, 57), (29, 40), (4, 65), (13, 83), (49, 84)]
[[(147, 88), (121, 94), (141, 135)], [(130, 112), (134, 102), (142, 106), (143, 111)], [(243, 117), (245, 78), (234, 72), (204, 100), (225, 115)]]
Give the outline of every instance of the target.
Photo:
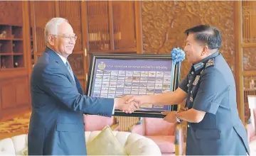
[(112, 116), (114, 106), (114, 99), (83, 95), (50, 48), (33, 67), (31, 98), (28, 155), (86, 155), (83, 113)]

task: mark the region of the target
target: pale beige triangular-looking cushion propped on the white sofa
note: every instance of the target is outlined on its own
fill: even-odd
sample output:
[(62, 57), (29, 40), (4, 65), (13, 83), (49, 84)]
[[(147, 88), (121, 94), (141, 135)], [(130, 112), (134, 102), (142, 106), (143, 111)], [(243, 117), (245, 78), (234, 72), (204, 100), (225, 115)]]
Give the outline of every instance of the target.
[(87, 155), (128, 155), (119, 143), (110, 126), (106, 126), (86, 145)]

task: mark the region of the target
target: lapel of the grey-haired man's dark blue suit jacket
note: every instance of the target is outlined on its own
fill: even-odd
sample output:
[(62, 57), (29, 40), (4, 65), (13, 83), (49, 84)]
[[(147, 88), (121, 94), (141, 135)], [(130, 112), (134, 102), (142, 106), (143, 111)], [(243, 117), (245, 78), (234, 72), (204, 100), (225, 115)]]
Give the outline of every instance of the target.
[(51, 58), (53, 58), (53, 60), (55, 60), (55, 62), (58, 63), (58, 65), (60, 65), (60, 67), (62, 67), (64, 69), (65, 74), (67, 75), (67, 77), (70, 80), (70, 82), (73, 83), (74, 85), (76, 85), (75, 82), (73, 81), (73, 77), (71, 77), (71, 74), (68, 71), (68, 68), (65, 66), (63, 60), (61, 60), (61, 58), (56, 54), (56, 52), (51, 50), (48, 47), (46, 48), (46, 52), (48, 53), (48, 55), (50, 55)]

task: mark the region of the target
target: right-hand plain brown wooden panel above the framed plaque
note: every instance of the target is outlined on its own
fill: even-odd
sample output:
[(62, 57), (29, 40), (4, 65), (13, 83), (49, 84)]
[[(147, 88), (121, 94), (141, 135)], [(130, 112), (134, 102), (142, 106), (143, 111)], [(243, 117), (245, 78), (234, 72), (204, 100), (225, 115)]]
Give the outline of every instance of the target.
[(112, 1), (114, 48), (136, 48), (134, 1)]

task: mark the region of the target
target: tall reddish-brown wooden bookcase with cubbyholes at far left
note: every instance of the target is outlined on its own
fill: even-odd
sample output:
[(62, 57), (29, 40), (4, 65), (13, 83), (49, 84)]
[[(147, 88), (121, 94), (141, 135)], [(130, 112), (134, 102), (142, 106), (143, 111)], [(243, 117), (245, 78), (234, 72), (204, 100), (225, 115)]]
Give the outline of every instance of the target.
[(31, 108), (28, 1), (0, 1), (0, 120)]

